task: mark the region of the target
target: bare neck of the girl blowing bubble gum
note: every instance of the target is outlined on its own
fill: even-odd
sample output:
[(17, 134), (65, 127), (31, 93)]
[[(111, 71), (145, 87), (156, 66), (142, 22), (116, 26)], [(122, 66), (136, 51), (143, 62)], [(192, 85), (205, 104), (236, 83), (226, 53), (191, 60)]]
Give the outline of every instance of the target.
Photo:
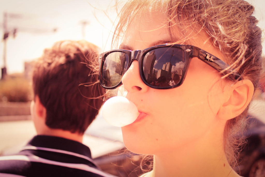
[(227, 162), (223, 131), (218, 131), (222, 128), (213, 129), (188, 144), (154, 155), (153, 171), (147, 176), (239, 176)]

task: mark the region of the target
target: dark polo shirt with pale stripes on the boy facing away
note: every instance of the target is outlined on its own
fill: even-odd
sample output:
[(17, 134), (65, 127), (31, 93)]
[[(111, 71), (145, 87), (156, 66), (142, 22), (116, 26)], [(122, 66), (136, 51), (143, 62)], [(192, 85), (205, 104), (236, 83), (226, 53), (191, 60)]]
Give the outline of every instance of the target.
[(14, 155), (0, 157), (0, 176), (111, 177), (91, 159), (89, 147), (77, 141), (37, 135)]

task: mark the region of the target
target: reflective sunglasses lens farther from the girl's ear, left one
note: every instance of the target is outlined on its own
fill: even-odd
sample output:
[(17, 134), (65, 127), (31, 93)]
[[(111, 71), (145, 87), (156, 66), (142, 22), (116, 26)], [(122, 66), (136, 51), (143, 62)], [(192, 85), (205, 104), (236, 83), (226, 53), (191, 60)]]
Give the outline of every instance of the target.
[(129, 56), (123, 52), (105, 54), (101, 67), (101, 84), (104, 87), (115, 87), (121, 82), (128, 65)]

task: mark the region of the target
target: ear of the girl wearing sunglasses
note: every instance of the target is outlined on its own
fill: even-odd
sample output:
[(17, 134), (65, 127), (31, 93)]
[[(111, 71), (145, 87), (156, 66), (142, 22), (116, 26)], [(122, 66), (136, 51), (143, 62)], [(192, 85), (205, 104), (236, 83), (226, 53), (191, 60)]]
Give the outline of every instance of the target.
[(240, 115), (250, 103), (254, 93), (253, 83), (248, 79), (227, 85), (223, 91), (223, 104), (218, 111), (218, 117), (229, 120)]

